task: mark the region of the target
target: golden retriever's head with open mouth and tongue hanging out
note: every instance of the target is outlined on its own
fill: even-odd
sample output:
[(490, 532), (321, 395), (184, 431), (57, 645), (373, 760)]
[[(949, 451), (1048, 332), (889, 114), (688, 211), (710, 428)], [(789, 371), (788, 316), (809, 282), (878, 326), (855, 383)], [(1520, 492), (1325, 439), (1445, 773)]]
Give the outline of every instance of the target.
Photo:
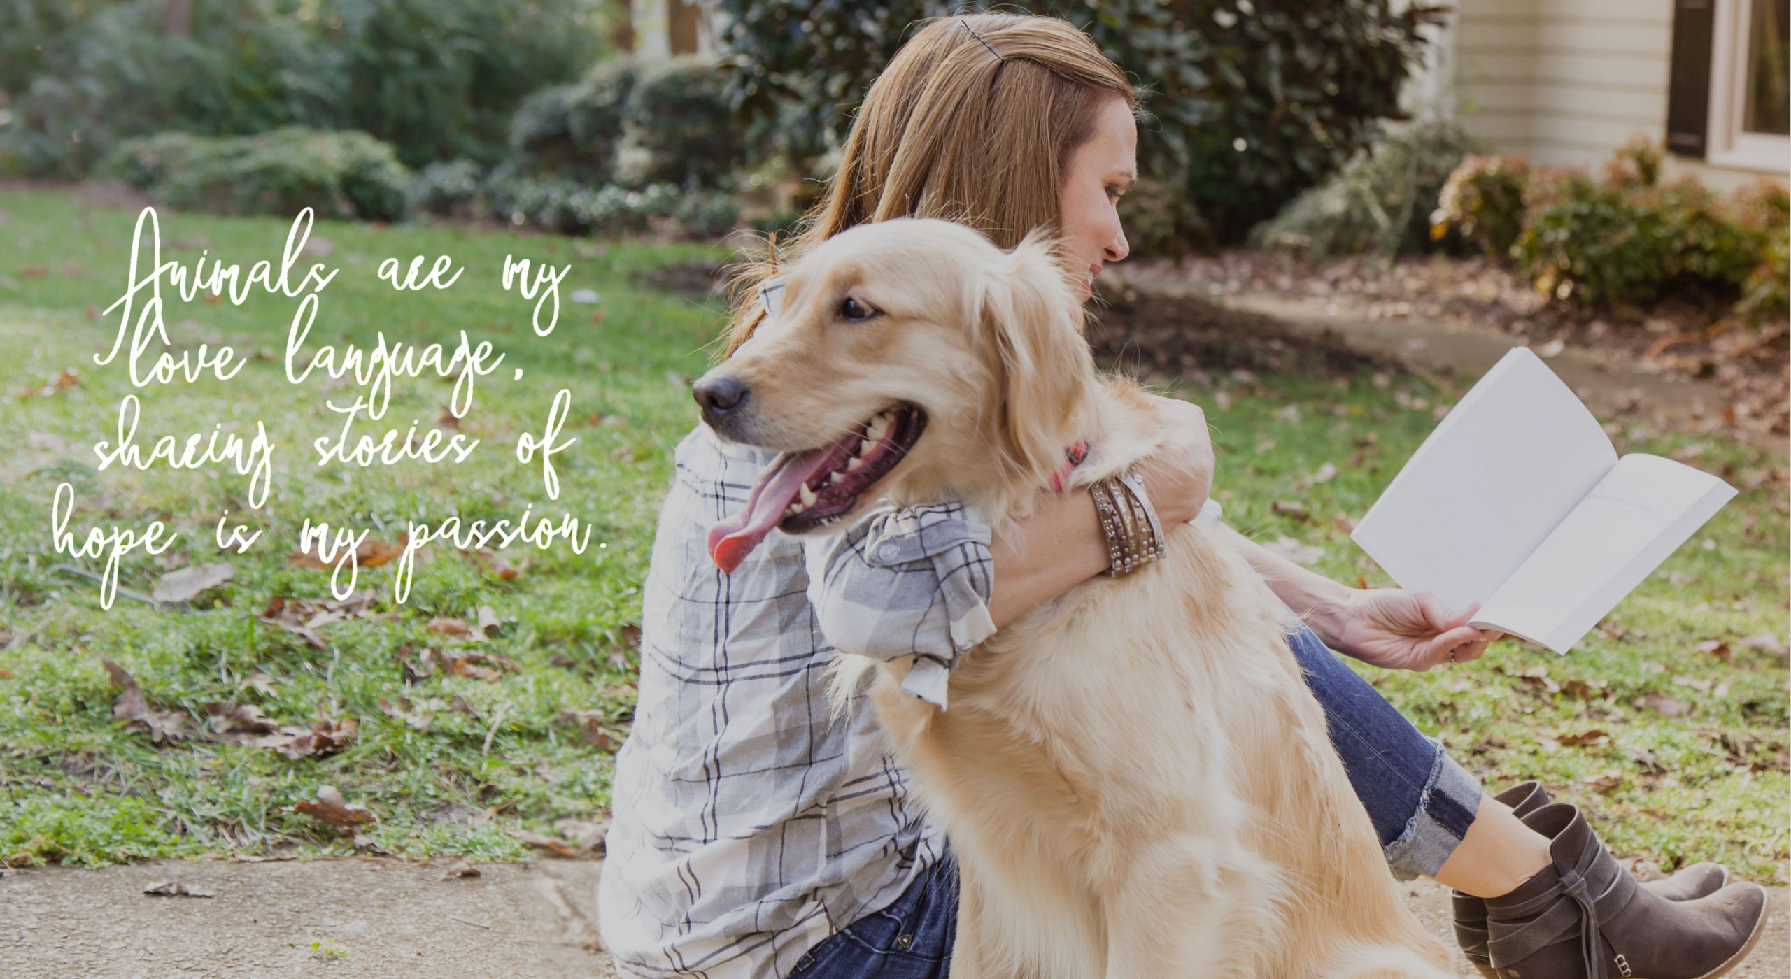
[(1094, 365), (1041, 236), (1005, 252), (942, 220), (858, 226), (790, 268), (781, 304), (695, 385), (716, 435), (781, 453), (709, 532), (727, 571), (879, 496), (1015, 515), (1078, 437)]

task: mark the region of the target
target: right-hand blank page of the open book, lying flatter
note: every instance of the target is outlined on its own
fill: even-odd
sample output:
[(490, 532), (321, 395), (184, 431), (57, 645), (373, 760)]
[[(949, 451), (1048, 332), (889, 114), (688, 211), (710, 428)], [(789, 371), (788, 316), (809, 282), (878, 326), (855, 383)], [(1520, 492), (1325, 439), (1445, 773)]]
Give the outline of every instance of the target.
[(1474, 621), (1565, 653), (1734, 496), (1671, 458), (1623, 456)]

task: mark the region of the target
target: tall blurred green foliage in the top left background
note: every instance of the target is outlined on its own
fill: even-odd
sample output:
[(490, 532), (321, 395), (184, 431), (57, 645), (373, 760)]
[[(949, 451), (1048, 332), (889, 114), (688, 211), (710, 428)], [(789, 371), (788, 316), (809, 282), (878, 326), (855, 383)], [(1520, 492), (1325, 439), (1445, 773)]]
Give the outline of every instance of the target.
[[(70, 7), (82, 13), (70, 13)], [(0, 4), (0, 52), (30, 48), (0, 127), (0, 170), (84, 175), (120, 140), (283, 125), (364, 131), (410, 165), (505, 152), (523, 95), (570, 81), (602, 47), (600, 0), (231, 0), (193, 36), (161, 4)], [(25, 84), (29, 81), (29, 84)]]

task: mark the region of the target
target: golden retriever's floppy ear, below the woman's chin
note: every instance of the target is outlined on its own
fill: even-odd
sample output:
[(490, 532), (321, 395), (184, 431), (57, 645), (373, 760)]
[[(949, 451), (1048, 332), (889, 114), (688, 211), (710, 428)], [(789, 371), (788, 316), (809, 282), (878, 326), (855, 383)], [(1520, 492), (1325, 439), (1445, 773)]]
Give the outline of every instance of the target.
[(1071, 431), (1094, 358), (1082, 336), (1082, 306), (1066, 281), (1057, 245), (1032, 233), (987, 276), (983, 326), (1001, 354), (1001, 451), (1005, 464), (1044, 485), (1064, 449), (1089, 433)]

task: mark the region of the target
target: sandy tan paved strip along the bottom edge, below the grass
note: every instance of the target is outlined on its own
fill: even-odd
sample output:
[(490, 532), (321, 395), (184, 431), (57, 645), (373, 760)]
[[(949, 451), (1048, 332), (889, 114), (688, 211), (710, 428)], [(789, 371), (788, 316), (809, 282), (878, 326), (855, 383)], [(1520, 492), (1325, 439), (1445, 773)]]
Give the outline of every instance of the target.
[[(600, 861), (158, 861), (106, 870), (61, 866), (0, 877), (0, 974), (16, 979), (340, 975), (441, 979), (613, 977), (596, 941)], [(152, 897), (179, 882), (213, 897)], [(1427, 929), (1451, 940), (1449, 893), (1402, 884)], [(1786, 890), (1734, 979), (1791, 974)], [(1465, 963), (1460, 975), (1476, 977)]]

